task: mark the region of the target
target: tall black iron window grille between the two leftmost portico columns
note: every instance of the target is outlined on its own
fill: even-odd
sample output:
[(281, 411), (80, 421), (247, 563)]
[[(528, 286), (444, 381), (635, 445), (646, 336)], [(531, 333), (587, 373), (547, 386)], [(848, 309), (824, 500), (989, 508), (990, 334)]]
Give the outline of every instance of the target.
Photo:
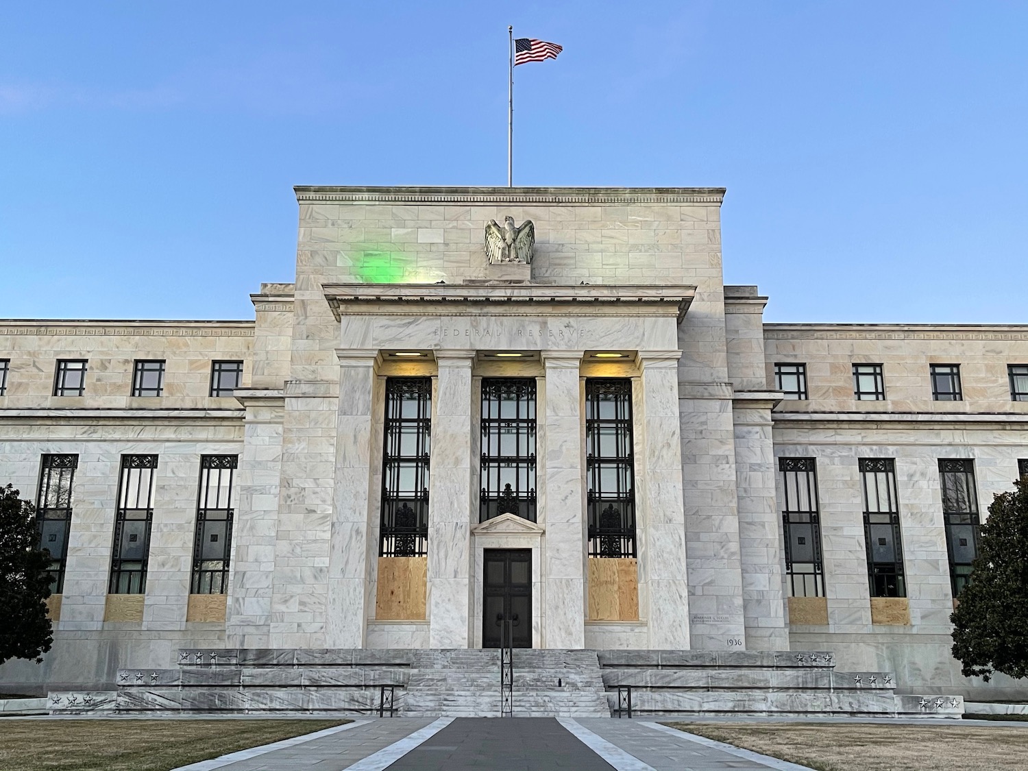
[(428, 554), (432, 378), (386, 379), (382, 504), (378, 553)]

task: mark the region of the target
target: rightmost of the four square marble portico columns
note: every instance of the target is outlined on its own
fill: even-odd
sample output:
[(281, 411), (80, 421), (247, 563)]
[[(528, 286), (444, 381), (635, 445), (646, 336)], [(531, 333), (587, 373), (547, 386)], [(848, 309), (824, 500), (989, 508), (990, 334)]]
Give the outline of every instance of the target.
[(640, 351), (642, 369), (642, 576), (648, 584), (651, 649), (689, 648), (686, 516), (678, 427), (681, 351)]

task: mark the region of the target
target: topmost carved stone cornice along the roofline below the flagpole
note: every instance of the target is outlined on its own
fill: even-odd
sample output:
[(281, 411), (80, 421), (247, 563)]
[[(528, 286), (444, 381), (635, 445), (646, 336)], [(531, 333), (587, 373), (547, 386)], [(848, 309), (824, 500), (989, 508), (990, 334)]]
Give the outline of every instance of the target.
[(724, 187), (336, 187), (297, 185), (300, 204), (717, 204)]

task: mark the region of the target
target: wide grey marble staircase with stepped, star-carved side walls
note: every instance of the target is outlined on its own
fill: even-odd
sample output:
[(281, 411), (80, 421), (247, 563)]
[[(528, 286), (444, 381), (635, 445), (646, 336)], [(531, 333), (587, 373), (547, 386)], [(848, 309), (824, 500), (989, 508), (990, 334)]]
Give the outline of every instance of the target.
[[(227, 649), (177, 669), (119, 669), (117, 691), (54, 692), (51, 714), (500, 717), (497, 650)], [(894, 693), (891, 672), (837, 672), (831, 653), (514, 651), (515, 717), (959, 718), (963, 700)]]

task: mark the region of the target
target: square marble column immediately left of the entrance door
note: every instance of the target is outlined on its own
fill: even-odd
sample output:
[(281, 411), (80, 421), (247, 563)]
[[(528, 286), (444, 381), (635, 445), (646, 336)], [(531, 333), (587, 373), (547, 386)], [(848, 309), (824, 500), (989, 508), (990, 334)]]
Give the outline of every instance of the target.
[(429, 647), (471, 636), (471, 366), (474, 351), (437, 351), (429, 483)]

